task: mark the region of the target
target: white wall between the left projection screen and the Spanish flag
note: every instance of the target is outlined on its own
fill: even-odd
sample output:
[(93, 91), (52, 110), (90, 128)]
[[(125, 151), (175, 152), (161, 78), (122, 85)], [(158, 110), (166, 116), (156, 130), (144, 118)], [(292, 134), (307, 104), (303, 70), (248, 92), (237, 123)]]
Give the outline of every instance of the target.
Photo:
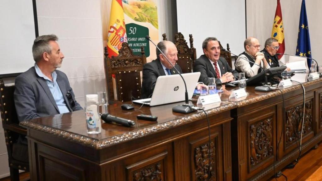
[(54, 33), (76, 100), (105, 90), (100, 0), (37, 0), (39, 35)]

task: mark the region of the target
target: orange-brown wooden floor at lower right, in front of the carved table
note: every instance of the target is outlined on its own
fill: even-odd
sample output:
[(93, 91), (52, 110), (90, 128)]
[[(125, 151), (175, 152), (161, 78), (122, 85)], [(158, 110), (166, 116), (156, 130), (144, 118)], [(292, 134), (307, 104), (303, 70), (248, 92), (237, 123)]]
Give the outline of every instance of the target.
[[(282, 173), (291, 181), (322, 181), (322, 144), (317, 149), (311, 149), (300, 158), (293, 169), (284, 169)], [(284, 176), (277, 178), (278, 181), (286, 180)], [(276, 181), (270, 178), (269, 181)]]

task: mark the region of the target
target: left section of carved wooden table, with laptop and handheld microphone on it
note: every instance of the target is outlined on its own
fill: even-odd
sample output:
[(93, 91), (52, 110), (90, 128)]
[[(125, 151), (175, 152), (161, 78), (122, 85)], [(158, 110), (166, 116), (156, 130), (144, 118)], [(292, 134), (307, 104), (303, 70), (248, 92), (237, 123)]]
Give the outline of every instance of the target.
[[(110, 104), (110, 114), (136, 126), (104, 123), (98, 135), (87, 134), (84, 111), (22, 122), (28, 130), (31, 180), (205, 180), (209, 164), (211, 180), (232, 180), (230, 110), (236, 104), (204, 107), (210, 160), (204, 112), (174, 113), (176, 104), (137, 111)], [(137, 120), (138, 114), (158, 120)]]

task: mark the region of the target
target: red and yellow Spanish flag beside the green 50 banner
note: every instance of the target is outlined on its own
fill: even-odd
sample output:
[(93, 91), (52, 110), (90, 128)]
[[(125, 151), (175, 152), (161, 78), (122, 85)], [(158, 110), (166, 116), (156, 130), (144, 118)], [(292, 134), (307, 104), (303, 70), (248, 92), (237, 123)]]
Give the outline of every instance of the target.
[(122, 0), (112, 0), (109, 17), (107, 51), (109, 57), (117, 56), (122, 43), (127, 42)]

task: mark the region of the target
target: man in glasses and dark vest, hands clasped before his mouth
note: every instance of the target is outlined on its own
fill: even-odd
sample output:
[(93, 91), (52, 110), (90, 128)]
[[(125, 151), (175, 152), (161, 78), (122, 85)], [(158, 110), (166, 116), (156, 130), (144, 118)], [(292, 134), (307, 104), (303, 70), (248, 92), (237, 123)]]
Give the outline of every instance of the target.
[[(235, 62), (236, 71), (245, 72), (246, 78), (250, 78), (262, 71), (258, 65), (261, 65), (264, 67), (264, 69), (270, 68), (270, 65), (265, 59), (264, 53), (260, 52), (260, 43), (257, 38), (248, 37), (244, 41), (244, 49), (245, 52), (242, 52), (239, 55), (242, 58), (238, 58)], [(247, 59), (251, 62), (248, 62), (244, 59)]]

